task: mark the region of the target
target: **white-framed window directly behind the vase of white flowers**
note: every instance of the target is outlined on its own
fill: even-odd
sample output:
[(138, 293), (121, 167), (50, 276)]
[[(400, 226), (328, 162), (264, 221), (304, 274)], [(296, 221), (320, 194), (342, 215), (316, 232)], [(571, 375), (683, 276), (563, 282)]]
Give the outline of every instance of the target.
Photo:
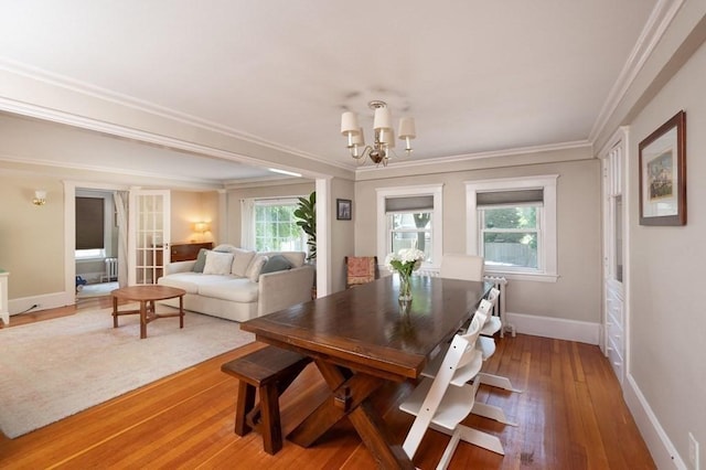
[(424, 269), (441, 261), (441, 185), (377, 190), (377, 259), (403, 248), (426, 254)]

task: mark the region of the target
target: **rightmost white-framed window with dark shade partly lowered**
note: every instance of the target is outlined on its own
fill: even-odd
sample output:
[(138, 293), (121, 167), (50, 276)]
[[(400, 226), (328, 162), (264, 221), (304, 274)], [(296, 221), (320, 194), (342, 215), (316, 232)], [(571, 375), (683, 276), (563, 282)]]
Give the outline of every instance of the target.
[(557, 175), (467, 182), (467, 250), (488, 274), (556, 280)]

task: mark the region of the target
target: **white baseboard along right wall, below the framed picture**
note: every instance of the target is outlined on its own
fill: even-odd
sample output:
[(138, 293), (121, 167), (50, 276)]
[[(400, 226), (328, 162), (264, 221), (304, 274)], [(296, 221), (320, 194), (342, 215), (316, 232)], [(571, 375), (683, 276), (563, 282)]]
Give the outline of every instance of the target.
[(625, 375), (622, 393), (656, 467), (659, 469), (676, 468), (686, 470), (687, 467), (684, 460), (682, 460), (682, 457), (676, 451), (676, 448), (660, 425), (650, 404), (630, 374)]

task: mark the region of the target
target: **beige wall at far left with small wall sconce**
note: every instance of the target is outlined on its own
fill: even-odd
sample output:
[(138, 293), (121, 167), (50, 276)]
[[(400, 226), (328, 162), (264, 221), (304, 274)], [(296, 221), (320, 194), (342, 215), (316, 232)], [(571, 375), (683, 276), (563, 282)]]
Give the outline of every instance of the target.
[[(46, 205), (32, 204), (46, 190)], [(0, 169), (0, 269), (10, 271), (8, 297), (64, 290), (64, 197), (53, 178)]]

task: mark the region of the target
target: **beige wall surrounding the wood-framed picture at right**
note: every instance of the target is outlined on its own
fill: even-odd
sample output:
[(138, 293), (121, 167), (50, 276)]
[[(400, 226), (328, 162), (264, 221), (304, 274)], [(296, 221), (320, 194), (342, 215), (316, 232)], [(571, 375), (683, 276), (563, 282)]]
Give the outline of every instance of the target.
[[(688, 464), (687, 434), (706, 449), (706, 46), (702, 45), (630, 125), (629, 374)], [(639, 225), (638, 145), (686, 111), (687, 225)], [(702, 463), (703, 464), (703, 463)]]

